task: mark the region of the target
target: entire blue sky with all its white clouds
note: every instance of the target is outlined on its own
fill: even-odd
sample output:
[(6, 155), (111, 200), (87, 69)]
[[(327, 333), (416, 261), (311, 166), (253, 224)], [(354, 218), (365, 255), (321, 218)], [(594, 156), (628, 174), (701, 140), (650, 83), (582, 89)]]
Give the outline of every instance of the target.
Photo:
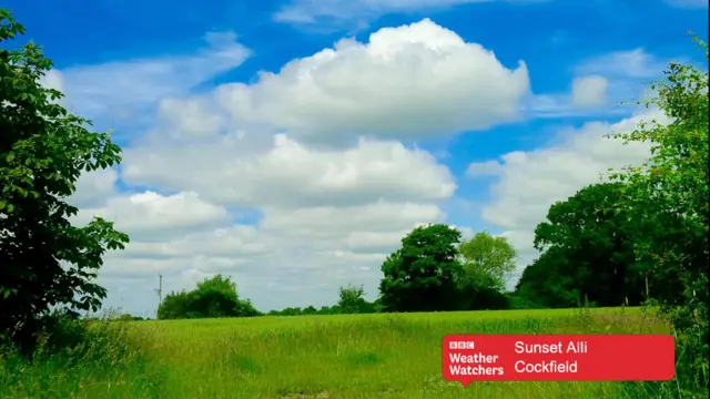
[(264, 310), (373, 297), (419, 223), (503, 234), (521, 268), (551, 203), (648, 156), (602, 139), (659, 116), (618, 103), (669, 61), (707, 69), (684, 34), (707, 38), (707, 0), (7, 7), (45, 84), (124, 147), (73, 201), (132, 236), (101, 282), (143, 315), (158, 274), (229, 274)]

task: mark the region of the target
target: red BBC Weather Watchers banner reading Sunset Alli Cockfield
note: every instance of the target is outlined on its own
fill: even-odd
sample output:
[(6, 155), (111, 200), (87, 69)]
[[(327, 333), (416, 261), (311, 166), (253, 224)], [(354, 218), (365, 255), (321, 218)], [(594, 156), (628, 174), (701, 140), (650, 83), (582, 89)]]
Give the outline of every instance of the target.
[(662, 335), (449, 335), (442, 372), (473, 381), (668, 381), (674, 340)]

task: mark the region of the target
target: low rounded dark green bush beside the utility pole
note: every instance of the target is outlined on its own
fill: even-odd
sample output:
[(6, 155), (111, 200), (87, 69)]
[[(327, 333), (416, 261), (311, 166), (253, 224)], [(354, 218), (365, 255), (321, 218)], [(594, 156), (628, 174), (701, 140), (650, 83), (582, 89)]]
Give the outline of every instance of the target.
[(261, 313), (241, 300), (236, 285), (222, 275), (205, 278), (191, 291), (171, 293), (158, 308), (159, 319), (253, 317)]

